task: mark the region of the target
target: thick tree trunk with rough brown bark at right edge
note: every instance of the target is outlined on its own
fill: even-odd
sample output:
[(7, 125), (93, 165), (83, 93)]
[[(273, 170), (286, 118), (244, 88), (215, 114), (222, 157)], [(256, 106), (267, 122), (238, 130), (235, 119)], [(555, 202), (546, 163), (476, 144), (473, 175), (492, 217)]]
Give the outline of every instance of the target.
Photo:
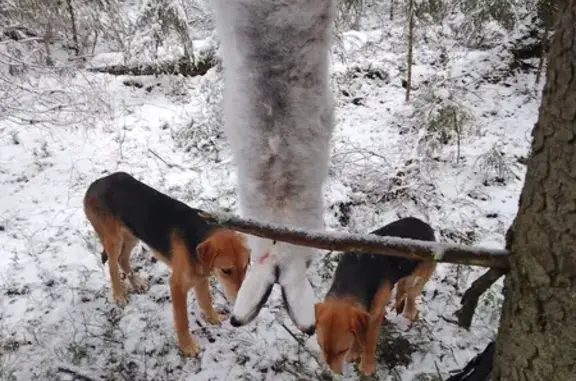
[(561, 3), (526, 181), (507, 236), (495, 381), (576, 379), (576, 0)]

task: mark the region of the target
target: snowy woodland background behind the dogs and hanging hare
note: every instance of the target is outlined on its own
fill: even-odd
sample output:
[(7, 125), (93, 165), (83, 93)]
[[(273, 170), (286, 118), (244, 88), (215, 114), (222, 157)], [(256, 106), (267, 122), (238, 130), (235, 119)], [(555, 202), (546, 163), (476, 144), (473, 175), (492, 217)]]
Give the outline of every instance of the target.
[[(340, 1), (328, 228), (414, 215), (444, 242), (503, 247), (554, 18), (534, 0)], [(81, 205), (97, 177), (124, 170), (191, 206), (237, 210), (209, 1), (4, 0), (0, 25), (0, 380), (328, 377), (276, 292), (241, 329), (210, 326), (191, 304), (199, 359), (178, 355), (168, 270), (145, 248), (133, 258), (149, 292), (124, 310), (109, 301)], [(336, 262), (312, 266), (318, 298)], [(419, 323), (389, 312), (377, 377), (446, 379), (493, 340), (502, 280), (469, 331), (455, 323), (481, 273), (442, 264)], [(218, 290), (215, 302), (230, 308)], [(359, 379), (352, 365), (346, 376)]]

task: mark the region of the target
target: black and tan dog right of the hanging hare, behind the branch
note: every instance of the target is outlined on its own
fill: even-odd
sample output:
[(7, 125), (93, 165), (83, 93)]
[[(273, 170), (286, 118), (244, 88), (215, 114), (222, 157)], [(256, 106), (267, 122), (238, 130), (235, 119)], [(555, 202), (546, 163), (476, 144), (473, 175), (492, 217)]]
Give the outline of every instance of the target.
[[(371, 234), (434, 241), (434, 231), (417, 218), (403, 218)], [(417, 318), (416, 297), (434, 272), (434, 262), (378, 254), (343, 253), (332, 286), (315, 305), (316, 335), (330, 368), (360, 359), (360, 371), (375, 371), (374, 357), (386, 304), (397, 283), (396, 311)]]

